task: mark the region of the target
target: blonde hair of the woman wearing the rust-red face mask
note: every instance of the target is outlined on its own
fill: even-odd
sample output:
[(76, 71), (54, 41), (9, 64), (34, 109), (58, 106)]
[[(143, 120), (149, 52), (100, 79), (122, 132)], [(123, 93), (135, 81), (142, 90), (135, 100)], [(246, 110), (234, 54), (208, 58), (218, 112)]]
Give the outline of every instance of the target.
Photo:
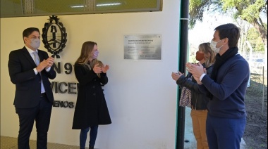
[(205, 67), (210, 67), (212, 64), (215, 63), (215, 56), (216, 53), (212, 51), (212, 48), (210, 48), (210, 43), (205, 42), (199, 45), (199, 50), (204, 53), (205, 56)]

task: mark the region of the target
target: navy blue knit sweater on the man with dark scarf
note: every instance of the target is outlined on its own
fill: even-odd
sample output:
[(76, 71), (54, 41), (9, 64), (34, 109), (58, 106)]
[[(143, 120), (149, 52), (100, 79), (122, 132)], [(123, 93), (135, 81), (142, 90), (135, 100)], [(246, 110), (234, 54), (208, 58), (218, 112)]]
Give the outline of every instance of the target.
[(249, 77), (248, 62), (239, 54), (229, 58), (219, 67), (216, 82), (205, 75), (200, 88), (213, 95), (207, 105), (208, 115), (224, 118), (246, 117), (244, 99)]

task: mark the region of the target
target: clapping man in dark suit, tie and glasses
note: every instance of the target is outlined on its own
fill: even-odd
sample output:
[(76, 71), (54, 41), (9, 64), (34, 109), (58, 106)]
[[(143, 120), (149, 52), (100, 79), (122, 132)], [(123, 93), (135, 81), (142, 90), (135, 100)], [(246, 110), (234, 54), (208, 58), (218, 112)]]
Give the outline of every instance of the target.
[(8, 71), (11, 82), (16, 84), (14, 105), (18, 114), (20, 130), (18, 149), (29, 149), (29, 139), (34, 122), (37, 129), (37, 149), (47, 148), (47, 131), (54, 96), (49, 79), (56, 77), (54, 58), (47, 52), (37, 50), (40, 32), (35, 27), (23, 31), (25, 46), (11, 51)]

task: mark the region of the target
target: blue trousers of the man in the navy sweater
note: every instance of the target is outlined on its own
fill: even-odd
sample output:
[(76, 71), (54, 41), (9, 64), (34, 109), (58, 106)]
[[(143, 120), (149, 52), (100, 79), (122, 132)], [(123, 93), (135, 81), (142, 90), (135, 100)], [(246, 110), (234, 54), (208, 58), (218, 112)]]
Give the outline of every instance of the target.
[(207, 141), (212, 149), (239, 149), (245, 118), (231, 119), (207, 115)]

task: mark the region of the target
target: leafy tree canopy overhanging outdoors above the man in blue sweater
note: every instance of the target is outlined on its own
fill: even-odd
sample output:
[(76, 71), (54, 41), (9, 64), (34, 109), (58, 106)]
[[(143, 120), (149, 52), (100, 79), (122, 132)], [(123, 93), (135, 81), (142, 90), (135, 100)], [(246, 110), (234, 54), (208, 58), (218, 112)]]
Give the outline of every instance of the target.
[(202, 22), (205, 11), (229, 13), (234, 19), (249, 22), (260, 33), (267, 51), (267, 24), (261, 18), (264, 15), (267, 19), (267, 0), (190, 0), (190, 28), (195, 26), (197, 20)]

